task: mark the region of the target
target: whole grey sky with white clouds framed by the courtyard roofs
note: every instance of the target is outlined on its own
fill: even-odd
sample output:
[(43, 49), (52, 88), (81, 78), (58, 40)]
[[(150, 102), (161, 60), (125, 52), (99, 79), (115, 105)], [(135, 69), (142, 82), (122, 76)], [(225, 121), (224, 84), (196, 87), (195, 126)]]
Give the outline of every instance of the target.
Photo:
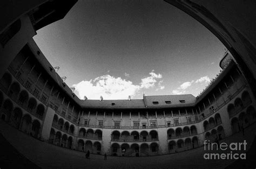
[(35, 39), (78, 97), (197, 96), (219, 73), (225, 46), (164, 1), (78, 1)]

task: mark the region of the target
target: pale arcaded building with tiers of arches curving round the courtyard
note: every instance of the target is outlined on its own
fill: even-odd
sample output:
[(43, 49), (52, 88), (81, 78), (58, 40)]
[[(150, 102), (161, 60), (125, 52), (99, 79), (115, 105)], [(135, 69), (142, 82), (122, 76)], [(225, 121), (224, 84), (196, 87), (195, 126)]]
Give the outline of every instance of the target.
[[(223, 139), (256, 121), (251, 85), (228, 53), (220, 62), (223, 71), (197, 97), (80, 100), (32, 39), (76, 1), (64, 1), (66, 10), (58, 3), (30, 2), (30, 10), (1, 27), (0, 117), (17, 130), (77, 151), (154, 156)], [(45, 10), (49, 6), (52, 10)]]

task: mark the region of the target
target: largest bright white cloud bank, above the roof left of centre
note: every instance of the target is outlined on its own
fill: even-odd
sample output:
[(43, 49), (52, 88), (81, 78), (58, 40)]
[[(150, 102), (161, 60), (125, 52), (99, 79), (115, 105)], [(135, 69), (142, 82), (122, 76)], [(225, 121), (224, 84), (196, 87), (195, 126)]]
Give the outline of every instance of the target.
[[(127, 99), (128, 96), (137, 95), (141, 89), (149, 89), (156, 86), (158, 79), (162, 78), (161, 74), (156, 74), (154, 71), (149, 73), (150, 76), (141, 79), (139, 85), (133, 85), (131, 81), (127, 81), (122, 78), (116, 78), (111, 75), (103, 75), (94, 80), (83, 80), (73, 87), (76, 88), (76, 93), (80, 99), (86, 96), (88, 99), (99, 99), (99, 96), (103, 96), (104, 99)], [(128, 74), (129, 75), (129, 74)], [(161, 86), (161, 82), (158, 82), (158, 88), (164, 89)]]

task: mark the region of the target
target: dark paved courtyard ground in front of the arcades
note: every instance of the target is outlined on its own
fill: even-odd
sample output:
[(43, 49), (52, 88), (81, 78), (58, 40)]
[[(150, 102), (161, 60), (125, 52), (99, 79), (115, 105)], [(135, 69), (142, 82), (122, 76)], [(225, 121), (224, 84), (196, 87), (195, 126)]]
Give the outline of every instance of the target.
[[(249, 150), (256, 135), (255, 126), (256, 124), (254, 123), (250, 128), (245, 129), (245, 137), (243, 137), (240, 132), (221, 142), (244, 142), (245, 139), (248, 143), (247, 150)], [(2, 150), (0, 153), (1, 160), (8, 159), (6, 160), (7, 163), (15, 163), (16, 161), (16, 166), (19, 166), (18, 168), (225, 168), (227, 166), (230, 166), (229, 168), (248, 168), (254, 165), (255, 160), (252, 159), (256, 157), (255, 146), (252, 146), (253, 150), (247, 155), (253, 156), (253, 158), (247, 157), (247, 160), (239, 160), (236, 163), (234, 163), (234, 159), (205, 160), (204, 153), (208, 151), (205, 151), (204, 147), (164, 156), (108, 156), (107, 160), (104, 160), (104, 156), (91, 154), (91, 159), (85, 159), (84, 152), (64, 149), (59, 146), (41, 142), (12, 128), (3, 121), (0, 121), (0, 132), (2, 134), (0, 139), (3, 140), (0, 142), (0, 149)], [(4, 139), (6, 139), (5, 142)], [(10, 145), (8, 145), (8, 142)], [(223, 153), (224, 151), (211, 151), (211, 153), (216, 152)], [(244, 153), (244, 151), (240, 153)], [(10, 157), (12, 159), (10, 159)], [(248, 163), (250, 165), (248, 165)], [(253, 168), (255, 167), (256, 166)], [(4, 168), (4, 166), (0, 164), (0, 168)], [(9, 168), (12, 167), (9, 166)]]

